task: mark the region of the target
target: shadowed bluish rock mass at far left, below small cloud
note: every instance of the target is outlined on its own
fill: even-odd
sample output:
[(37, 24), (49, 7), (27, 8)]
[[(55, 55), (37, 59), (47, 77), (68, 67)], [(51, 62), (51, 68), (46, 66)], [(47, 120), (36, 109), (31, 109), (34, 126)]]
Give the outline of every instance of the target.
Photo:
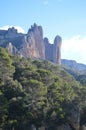
[(19, 48), (21, 48), (22, 45), (23, 36), (24, 34), (18, 33), (14, 27), (9, 28), (8, 30), (0, 30), (0, 46), (7, 48), (9, 43), (11, 43), (12, 46), (19, 51)]

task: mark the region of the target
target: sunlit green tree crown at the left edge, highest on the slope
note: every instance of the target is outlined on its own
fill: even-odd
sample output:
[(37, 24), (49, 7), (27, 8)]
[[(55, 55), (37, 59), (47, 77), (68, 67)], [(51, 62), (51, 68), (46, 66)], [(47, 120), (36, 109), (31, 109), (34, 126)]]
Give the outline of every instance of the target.
[(0, 48), (0, 80), (4, 83), (8, 77), (13, 76), (14, 71), (12, 57), (7, 50)]

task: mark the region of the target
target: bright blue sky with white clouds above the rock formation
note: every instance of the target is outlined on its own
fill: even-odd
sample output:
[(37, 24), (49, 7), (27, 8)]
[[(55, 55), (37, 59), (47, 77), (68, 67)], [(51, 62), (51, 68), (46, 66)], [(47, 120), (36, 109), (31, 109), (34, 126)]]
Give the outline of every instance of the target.
[(27, 33), (34, 23), (51, 43), (62, 37), (62, 59), (86, 64), (86, 0), (0, 0), (0, 29)]

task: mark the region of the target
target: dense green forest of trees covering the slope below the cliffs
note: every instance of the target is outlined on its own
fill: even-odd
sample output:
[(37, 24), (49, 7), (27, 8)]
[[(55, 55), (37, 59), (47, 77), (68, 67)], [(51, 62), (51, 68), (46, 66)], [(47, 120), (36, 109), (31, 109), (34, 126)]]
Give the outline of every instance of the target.
[(75, 79), (61, 66), (10, 56), (0, 48), (0, 128), (27, 130), (32, 124), (64, 123), (65, 104), (73, 102), (84, 114), (85, 76)]

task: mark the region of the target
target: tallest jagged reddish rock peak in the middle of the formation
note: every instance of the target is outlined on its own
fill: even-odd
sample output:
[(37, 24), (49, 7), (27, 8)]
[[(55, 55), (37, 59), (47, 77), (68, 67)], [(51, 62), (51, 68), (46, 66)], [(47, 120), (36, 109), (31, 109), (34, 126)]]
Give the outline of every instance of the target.
[(45, 59), (45, 46), (41, 26), (31, 26), (23, 38), (23, 46), (20, 52), (24, 57)]

